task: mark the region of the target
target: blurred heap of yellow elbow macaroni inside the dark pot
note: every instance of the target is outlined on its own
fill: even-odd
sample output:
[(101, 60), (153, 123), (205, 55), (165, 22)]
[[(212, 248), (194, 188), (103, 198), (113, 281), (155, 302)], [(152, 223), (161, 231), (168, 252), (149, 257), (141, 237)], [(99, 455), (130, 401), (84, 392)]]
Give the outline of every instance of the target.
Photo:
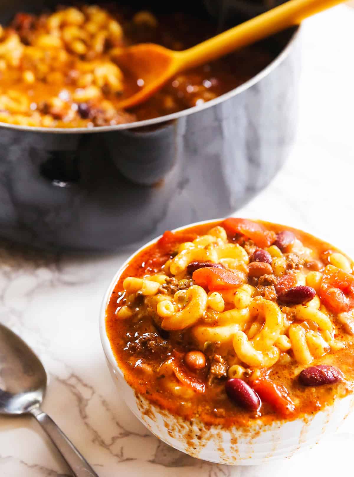
[[(125, 82), (115, 58), (124, 45), (124, 32), (114, 14), (83, 5), (39, 16), (19, 13), (13, 23), (0, 27), (2, 122), (70, 127), (122, 121), (115, 95), (123, 92)], [(18, 94), (16, 101), (9, 90)], [(62, 92), (65, 101), (53, 106)], [(79, 104), (86, 101), (92, 102), (90, 117), (80, 114)], [(127, 122), (132, 118), (126, 115)]]

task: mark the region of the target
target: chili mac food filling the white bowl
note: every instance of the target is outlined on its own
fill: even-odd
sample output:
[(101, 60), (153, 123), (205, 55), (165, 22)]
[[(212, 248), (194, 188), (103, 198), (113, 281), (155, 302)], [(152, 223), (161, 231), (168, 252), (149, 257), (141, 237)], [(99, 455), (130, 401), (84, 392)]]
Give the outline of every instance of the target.
[(112, 343), (158, 404), (188, 419), (190, 406), (200, 419), (235, 417), (237, 406), (286, 418), (353, 389), (352, 262), (270, 227), (230, 218), (168, 232), (123, 272)]

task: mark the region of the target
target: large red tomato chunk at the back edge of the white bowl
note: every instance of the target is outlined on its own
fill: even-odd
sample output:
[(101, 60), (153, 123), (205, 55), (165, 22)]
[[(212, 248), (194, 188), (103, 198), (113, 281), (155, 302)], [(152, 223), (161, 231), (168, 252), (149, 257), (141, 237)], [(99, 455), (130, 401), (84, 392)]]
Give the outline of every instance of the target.
[(222, 226), (229, 234), (245, 235), (261, 249), (269, 247), (276, 239), (275, 232), (266, 230), (262, 225), (247, 218), (229, 217), (223, 221)]

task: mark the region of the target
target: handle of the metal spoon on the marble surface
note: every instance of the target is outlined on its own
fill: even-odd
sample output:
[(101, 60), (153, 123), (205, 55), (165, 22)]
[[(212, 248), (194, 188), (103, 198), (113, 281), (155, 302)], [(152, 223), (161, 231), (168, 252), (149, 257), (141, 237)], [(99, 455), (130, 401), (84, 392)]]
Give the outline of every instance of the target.
[(31, 409), (30, 412), (40, 423), (46, 434), (52, 439), (54, 446), (61, 453), (74, 477), (98, 477), (94, 469), (49, 415), (44, 413), (39, 407)]

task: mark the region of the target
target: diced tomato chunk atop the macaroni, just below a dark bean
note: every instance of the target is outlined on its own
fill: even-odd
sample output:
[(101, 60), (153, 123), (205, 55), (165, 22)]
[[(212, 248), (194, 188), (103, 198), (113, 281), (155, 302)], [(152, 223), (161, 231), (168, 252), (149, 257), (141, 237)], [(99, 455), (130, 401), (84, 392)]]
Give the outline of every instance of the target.
[(197, 285), (208, 288), (210, 291), (236, 288), (243, 283), (241, 272), (211, 267), (196, 270), (193, 272), (192, 278)]

